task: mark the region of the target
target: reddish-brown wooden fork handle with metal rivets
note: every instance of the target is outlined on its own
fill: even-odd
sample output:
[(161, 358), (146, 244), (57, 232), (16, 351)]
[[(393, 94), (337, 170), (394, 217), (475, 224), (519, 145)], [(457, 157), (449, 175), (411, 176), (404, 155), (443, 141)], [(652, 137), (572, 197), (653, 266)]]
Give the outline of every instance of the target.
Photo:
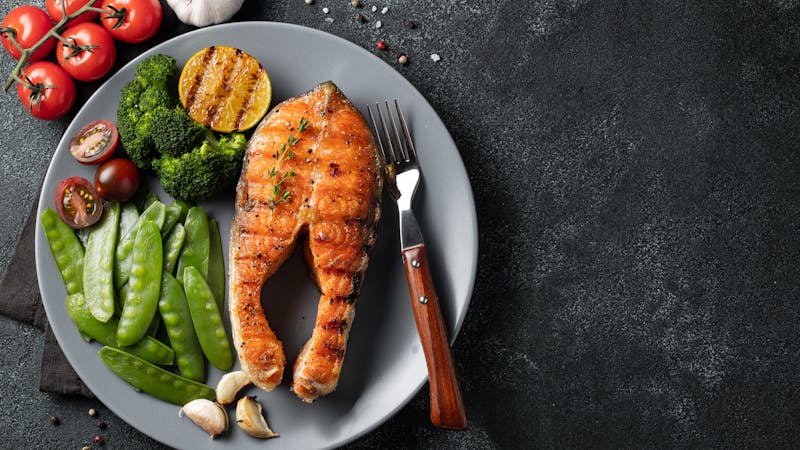
[(425, 255), (425, 245), (404, 249), (403, 262), (411, 290), (411, 307), (428, 363), (431, 422), (439, 428), (463, 430), (467, 428), (467, 414), (450, 354), (450, 341), (447, 339), (439, 298)]

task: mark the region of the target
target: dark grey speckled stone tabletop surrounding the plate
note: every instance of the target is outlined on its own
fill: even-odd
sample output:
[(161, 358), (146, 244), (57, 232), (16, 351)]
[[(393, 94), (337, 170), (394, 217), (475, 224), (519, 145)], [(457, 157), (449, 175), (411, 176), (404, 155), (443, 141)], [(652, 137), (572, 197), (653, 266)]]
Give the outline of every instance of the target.
[[(473, 183), (479, 273), (455, 344), (471, 426), (431, 428), (423, 389), (352, 448), (795, 445), (800, 2), (364, 3), (391, 5), (381, 29), (345, 1), (238, 16), (407, 53)], [(68, 118), (0, 105), (2, 271)], [(39, 393), (38, 331), (0, 319), (0, 339), (4, 446), (80, 448), (92, 405), (108, 448), (160, 448)]]

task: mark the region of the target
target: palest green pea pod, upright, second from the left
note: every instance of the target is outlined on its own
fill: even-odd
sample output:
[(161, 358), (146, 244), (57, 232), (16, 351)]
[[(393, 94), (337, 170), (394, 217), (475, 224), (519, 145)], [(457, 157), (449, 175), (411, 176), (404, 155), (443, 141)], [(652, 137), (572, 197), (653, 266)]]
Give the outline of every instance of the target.
[(114, 248), (119, 231), (119, 203), (110, 202), (89, 235), (83, 267), (83, 294), (92, 315), (108, 322), (114, 315)]

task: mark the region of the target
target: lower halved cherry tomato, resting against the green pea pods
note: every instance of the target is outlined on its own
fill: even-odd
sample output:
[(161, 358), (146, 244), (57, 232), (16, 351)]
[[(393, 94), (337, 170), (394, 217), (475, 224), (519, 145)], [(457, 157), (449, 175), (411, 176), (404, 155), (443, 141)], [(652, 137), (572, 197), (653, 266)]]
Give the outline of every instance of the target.
[(82, 177), (71, 177), (56, 188), (55, 206), (61, 220), (72, 228), (94, 225), (103, 214), (103, 200)]

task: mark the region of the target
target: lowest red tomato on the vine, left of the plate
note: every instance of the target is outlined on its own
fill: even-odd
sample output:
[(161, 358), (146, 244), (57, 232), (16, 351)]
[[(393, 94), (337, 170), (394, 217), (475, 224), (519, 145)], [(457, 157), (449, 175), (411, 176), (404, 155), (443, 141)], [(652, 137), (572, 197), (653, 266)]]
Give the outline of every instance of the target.
[(66, 114), (75, 103), (75, 82), (58, 64), (37, 61), (23, 71), (17, 95), (33, 117), (51, 120)]

